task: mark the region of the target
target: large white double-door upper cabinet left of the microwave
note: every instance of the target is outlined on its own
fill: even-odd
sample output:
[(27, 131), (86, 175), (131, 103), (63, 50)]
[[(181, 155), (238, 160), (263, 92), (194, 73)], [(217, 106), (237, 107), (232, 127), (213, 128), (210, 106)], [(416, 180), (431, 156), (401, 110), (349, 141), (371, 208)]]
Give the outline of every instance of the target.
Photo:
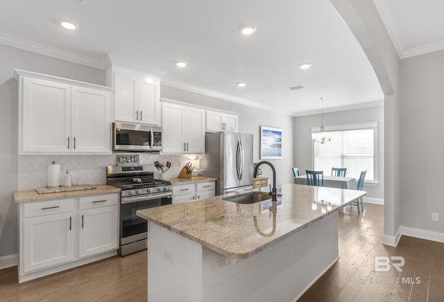
[(19, 154), (112, 152), (112, 89), (28, 71), (16, 73)]

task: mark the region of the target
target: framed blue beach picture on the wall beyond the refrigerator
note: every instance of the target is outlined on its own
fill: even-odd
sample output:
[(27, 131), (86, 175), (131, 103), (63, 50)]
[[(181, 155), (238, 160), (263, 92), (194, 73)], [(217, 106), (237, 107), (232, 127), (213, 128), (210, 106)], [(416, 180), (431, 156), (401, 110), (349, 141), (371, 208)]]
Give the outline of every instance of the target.
[(282, 129), (261, 126), (261, 159), (282, 159)]

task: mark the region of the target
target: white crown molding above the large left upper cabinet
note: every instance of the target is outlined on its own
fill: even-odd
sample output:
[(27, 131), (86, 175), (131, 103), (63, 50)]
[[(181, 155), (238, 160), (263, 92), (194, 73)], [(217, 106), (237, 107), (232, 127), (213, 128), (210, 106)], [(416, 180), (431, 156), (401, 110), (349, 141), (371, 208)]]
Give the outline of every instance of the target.
[(99, 69), (103, 68), (103, 59), (97, 57), (89, 57), (87, 55), (79, 55), (71, 51), (65, 51), (60, 48), (40, 44), (27, 39), (14, 37), (12, 35), (6, 35), (0, 33), (0, 44), (12, 46), (15, 48), (24, 49), (25, 51), (31, 51), (33, 53), (40, 53), (41, 55), (48, 55), (50, 57), (56, 57), (60, 60), (66, 60), (86, 66), (91, 66)]

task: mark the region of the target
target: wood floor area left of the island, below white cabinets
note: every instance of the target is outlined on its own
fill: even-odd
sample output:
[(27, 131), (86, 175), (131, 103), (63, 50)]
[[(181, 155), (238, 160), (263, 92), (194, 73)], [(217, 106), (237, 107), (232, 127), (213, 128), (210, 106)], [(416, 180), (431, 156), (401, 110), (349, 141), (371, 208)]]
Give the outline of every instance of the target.
[(146, 250), (114, 256), (18, 284), (17, 267), (0, 270), (0, 301), (146, 301)]

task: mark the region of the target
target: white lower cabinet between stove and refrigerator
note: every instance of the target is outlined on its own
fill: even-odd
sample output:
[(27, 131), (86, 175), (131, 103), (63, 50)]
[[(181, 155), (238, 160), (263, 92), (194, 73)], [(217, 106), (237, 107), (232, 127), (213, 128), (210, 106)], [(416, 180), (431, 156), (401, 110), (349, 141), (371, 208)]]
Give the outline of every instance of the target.
[(212, 197), (215, 195), (215, 188), (215, 181), (173, 185), (173, 204)]

